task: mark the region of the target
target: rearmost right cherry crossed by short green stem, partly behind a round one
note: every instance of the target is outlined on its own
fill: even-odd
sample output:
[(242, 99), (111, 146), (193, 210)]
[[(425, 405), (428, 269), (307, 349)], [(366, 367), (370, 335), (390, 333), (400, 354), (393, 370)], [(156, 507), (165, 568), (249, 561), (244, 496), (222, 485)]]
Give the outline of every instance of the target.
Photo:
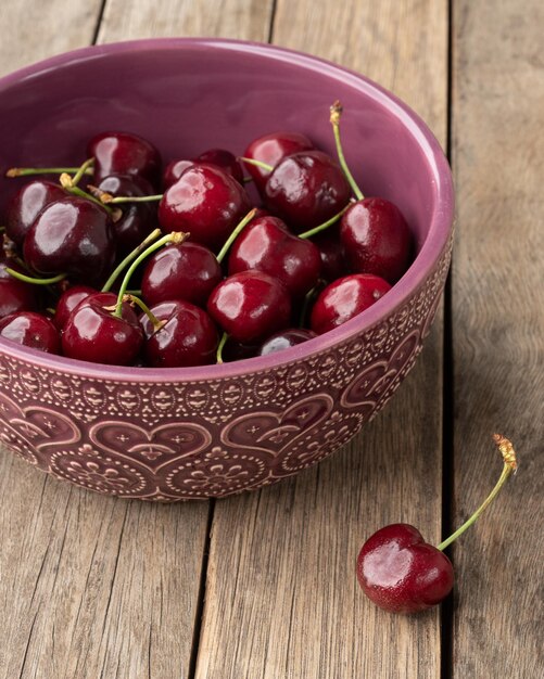
[[(243, 156), (276, 167), (286, 156), (312, 149), (314, 149), (314, 144), (304, 134), (281, 131), (254, 139), (245, 149)], [(263, 167), (249, 163), (245, 164), (245, 168), (260, 193), (263, 193), (270, 172)]]

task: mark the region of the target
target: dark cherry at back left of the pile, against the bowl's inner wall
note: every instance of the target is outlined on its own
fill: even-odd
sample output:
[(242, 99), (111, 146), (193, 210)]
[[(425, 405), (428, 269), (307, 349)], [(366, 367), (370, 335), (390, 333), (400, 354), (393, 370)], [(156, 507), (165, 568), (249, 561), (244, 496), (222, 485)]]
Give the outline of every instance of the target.
[(147, 139), (129, 132), (101, 132), (87, 144), (94, 158), (94, 182), (109, 175), (137, 175), (153, 187), (161, 180), (161, 155)]

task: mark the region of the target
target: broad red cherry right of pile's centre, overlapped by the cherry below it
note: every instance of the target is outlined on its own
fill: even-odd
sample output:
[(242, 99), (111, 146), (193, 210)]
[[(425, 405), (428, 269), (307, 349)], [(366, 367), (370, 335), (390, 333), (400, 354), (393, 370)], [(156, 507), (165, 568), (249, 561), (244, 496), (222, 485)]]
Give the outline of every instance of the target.
[(257, 270), (279, 279), (293, 299), (316, 285), (321, 270), (319, 251), (309, 240), (292, 234), (277, 217), (253, 219), (235, 241), (228, 271)]

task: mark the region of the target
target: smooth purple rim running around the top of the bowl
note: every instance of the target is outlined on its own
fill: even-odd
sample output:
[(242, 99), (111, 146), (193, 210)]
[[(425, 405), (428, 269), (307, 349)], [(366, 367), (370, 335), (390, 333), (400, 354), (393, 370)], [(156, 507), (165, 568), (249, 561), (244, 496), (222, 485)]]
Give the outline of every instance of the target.
[(43, 351), (20, 346), (0, 337), (0, 349), (7, 356), (41, 368), (77, 374), (88, 379), (101, 379), (115, 382), (173, 383), (173, 382), (207, 382), (223, 377), (235, 377), (258, 373), (280, 366), (287, 366), (301, 359), (311, 358), (322, 350), (344, 343), (377, 325), (384, 318), (401, 307), (413, 296), (426, 280), (443, 254), (454, 222), (454, 187), (452, 171), (442, 148), (422, 118), (395, 94), (370, 78), (330, 62), (296, 50), (273, 46), (266, 42), (233, 40), (226, 38), (148, 38), (140, 40), (123, 40), (99, 46), (89, 46), (63, 52), (29, 66), (20, 68), (0, 78), (0, 93), (12, 85), (28, 77), (36, 76), (55, 68), (89, 59), (119, 54), (130, 51), (157, 51), (172, 49), (225, 49), (235, 52), (250, 52), (266, 59), (276, 59), (298, 67), (309, 68), (331, 78), (340, 79), (354, 89), (359, 89), (367, 97), (381, 104), (394, 115), (415, 138), (421, 148), (427, 163), (435, 179), (437, 204), (431, 217), (428, 235), (418, 256), (402, 279), (391, 291), (359, 316), (343, 325), (319, 335), (290, 349), (278, 351), (265, 357), (254, 357), (229, 363), (202, 366), (193, 368), (135, 368), (90, 363), (53, 356)]

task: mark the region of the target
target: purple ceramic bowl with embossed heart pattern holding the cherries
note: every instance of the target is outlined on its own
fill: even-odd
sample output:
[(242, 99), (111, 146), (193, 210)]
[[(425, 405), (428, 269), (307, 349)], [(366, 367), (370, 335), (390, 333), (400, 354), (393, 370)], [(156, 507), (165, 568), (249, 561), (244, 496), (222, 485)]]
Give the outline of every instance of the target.
[[(241, 153), (278, 129), (333, 153), (336, 99), (356, 179), (367, 195), (394, 201), (416, 236), (417, 257), (391, 292), (305, 344), (223, 366), (114, 368), (0, 341), (5, 448), (78, 486), (160, 501), (227, 496), (315, 464), (414, 366), (447, 273), (453, 190), (437, 140), (398, 99), (358, 74), (266, 44), (107, 44), (0, 80), (1, 170), (73, 164), (105, 129), (149, 138), (165, 162), (213, 146)], [(14, 181), (1, 180), (2, 201)]]

